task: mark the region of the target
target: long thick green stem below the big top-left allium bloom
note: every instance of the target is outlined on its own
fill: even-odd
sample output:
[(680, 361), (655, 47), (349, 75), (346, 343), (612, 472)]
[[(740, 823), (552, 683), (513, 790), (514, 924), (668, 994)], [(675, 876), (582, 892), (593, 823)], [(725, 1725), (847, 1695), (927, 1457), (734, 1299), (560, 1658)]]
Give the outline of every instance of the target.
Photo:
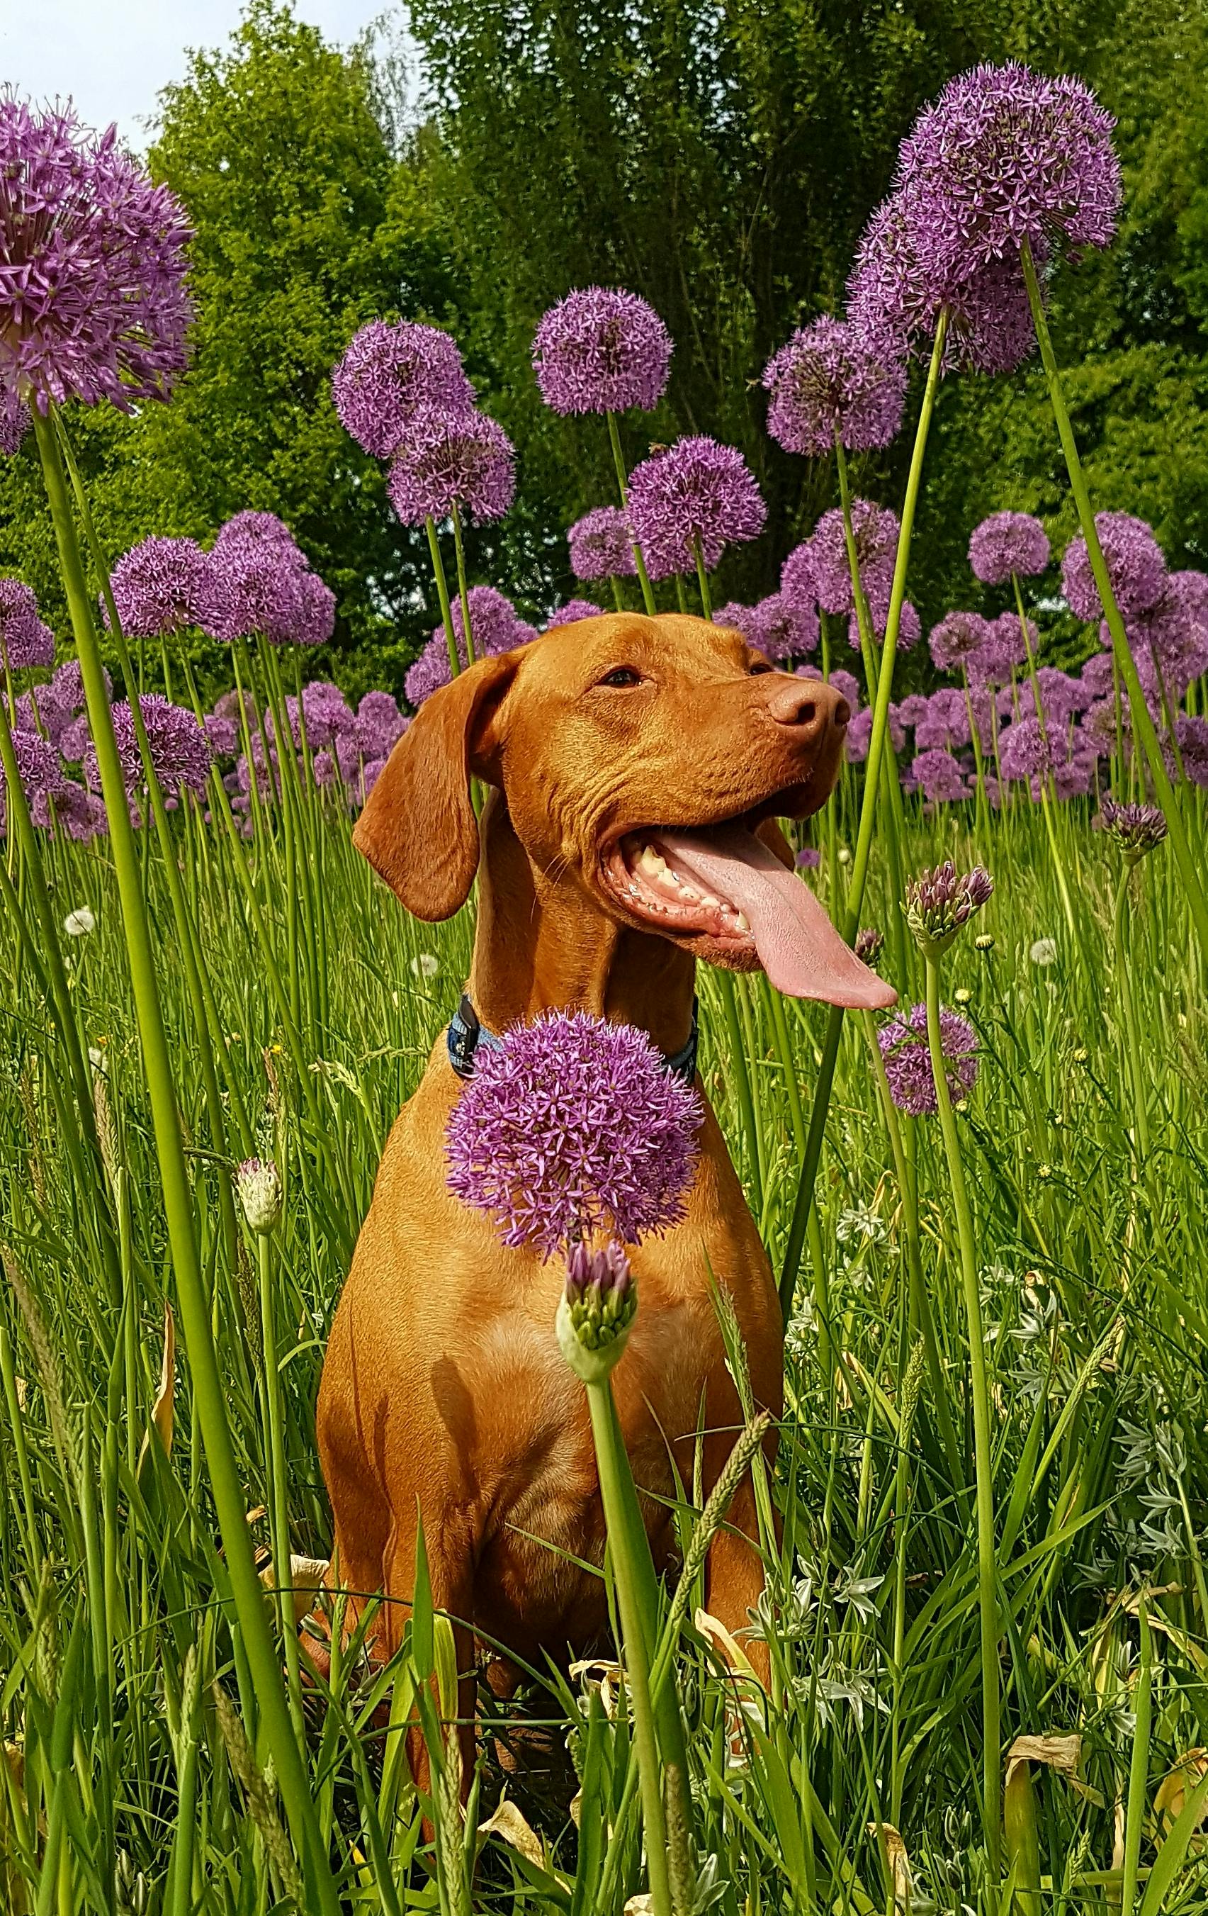
[(84, 577), (77, 531), (71, 517), (71, 502), (63, 473), (63, 460), (52, 420), (31, 408), (50, 515), (56, 531), (63, 588), (71, 611), (71, 628), (77, 642), (84, 697), (88, 703), (88, 724), (92, 730), (96, 757), (101, 776), (101, 793), (109, 816), (109, 847), (117, 876), (123, 929), (130, 964), (130, 985), (134, 1010), (151, 1100), (151, 1123), (159, 1157), (159, 1176), (163, 1184), (165, 1220), (172, 1268), (176, 1274), (176, 1295), (186, 1335), (190, 1364), (193, 1372), (193, 1403), (201, 1424), (205, 1456), (218, 1510), (218, 1527), (230, 1573), (232, 1596), (239, 1617), (243, 1650), (257, 1686), (260, 1719), (268, 1736), (268, 1747), (278, 1768), (278, 1782), (295, 1841), (310, 1862), (310, 1887), (324, 1916), (339, 1916), (339, 1899), (331, 1866), (320, 1847), (318, 1820), (310, 1797), (306, 1765), (293, 1734), (289, 1707), (281, 1688), (278, 1654), (272, 1629), (264, 1609), (264, 1592), (257, 1577), (251, 1535), (245, 1521), (247, 1500), (239, 1481), (235, 1450), (226, 1418), (226, 1397), (218, 1353), (211, 1326), (211, 1309), (197, 1255), (197, 1236), (193, 1219), (193, 1199), (190, 1175), (180, 1136), (176, 1109), (176, 1086), (172, 1083), (172, 1063), (168, 1056), (168, 1037), (163, 1023), (159, 985), (155, 979), (155, 958), (151, 950), (151, 925), (138, 876), (138, 847), (134, 828), (126, 810), (126, 787), (123, 778), (113, 718), (105, 694), (101, 653), (92, 619), (92, 598)]

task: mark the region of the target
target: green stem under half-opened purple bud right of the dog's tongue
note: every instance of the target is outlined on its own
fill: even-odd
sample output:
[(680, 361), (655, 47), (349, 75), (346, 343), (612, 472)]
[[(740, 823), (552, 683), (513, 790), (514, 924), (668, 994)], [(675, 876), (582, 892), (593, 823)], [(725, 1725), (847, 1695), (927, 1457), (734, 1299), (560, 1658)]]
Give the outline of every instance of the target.
[(1001, 1713), (997, 1667), (997, 1567), (994, 1556), (994, 1448), (990, 1443), (986, 1337), (982, 1332), (976, 1238), (973, 1232), (973, 1213), (969, 1209), (969, 1190), (965, 1186), (961, 1140), (957, 1136), (957, 1121), (948, 1092), (948, 1065), (944, 1060), (944, 1037), (940, 1031), (940, 966), (936, 958), (927, 952), (925, 966), (927, 1042), (930, 1048), (930, 1071), (936, 1084), (940, 1130), (944, 1134), (944, 1155), (948, 1157), (948, 1178), (951, 1182), (951, 1207), (955, 1213), (957, 1243), (961, 1251), (961, 1291), (965, 1297), (965, 1324), (969, 1334), (978, 1613), (982, 1634), (982, 1820), (986, 1828), (986, 1855), (990, 1860), (990, 1887), (992, 1897), (997, 1899), (1001, 1866)]

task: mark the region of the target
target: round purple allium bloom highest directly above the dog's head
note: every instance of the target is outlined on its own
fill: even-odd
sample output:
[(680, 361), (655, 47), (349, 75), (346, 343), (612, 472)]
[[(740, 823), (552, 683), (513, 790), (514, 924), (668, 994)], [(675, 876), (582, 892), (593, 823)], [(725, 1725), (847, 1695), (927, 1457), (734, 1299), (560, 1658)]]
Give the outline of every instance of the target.
[(603, 285), (559, 299), (532, 339), (536, 383), (555, 412), (651, 412), (666, 391), (670, 356), (672, 337), (655, 308)]

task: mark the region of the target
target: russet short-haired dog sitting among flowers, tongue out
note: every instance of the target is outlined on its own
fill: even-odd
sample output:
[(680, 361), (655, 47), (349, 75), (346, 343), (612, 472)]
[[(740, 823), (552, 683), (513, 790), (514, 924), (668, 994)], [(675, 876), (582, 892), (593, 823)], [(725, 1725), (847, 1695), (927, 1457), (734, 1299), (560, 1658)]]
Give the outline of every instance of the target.
[[(886, 1004), (791, 870), (773, 824), (831, 791), (848, 707), (817, 680), (773, 673), (733, 630), (613, 615), (482, 659), (435, 692), (400, 740), (354, 841), (417, 918), (450, 918), (479, 874), (469, 1000), (503, 1033), (582, 1008), (685, 1044), (695, 960), (781, 991)], [(471, 774), (494, 791), (482, 824)], [(415, 1514), (433, 1600), (471, 1636), (530, 1663), (607, 1631), (603, 1516), (582, 1385), (553, 1316), (557, 1261), (505, 1249), (444, 1182), (444, 1127), (461, 1079), (444, 1035), (394, 1125), (318, 1401), (335, 1512), (331, 1577), (381, 1590), (377, 1650), (410, 1611)], [(705, 1427), (712, 1485), (741, 1422), (708, 1272), (735, 1303), (754, 1391), (781, 1410), (781, 1312), (772, 1270), (706, 1107), (685, 1220), (634, 1253), (639, 1311), (615, 1372), (634, 1475), (670, 1496), (691, 1483)], [(645, 1500), (666, 1562), (666, 1506)], [(762, 1590), (754, 1502), (739, 1491), (708, 1560), (706, 1604), (729, 1629)], [(553, 1546), (553, 1548), (549, 1548)], [(505, 1667), (494, 1673), (505, 1686)], [(492, 1676), (494, 1680), (494, 1676)], [(473, 1692), (459, 1715), (473, 1713)]]

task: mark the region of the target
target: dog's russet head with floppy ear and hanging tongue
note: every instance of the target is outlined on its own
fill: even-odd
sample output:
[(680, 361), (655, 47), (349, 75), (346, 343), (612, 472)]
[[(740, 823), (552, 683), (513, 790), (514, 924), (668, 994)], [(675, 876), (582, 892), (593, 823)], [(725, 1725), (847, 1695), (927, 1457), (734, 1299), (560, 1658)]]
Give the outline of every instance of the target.
[(615, 613), (481, 659), (425, 701), (354, 843), (417, 918), (450, 918), (479, 864), (469, 780), (502, 791), (538, 874), (695, 958), (833, 1004), (894, 992), (793, 872), (777, 818), (839, 776), (848, 705), (705, 619)]

